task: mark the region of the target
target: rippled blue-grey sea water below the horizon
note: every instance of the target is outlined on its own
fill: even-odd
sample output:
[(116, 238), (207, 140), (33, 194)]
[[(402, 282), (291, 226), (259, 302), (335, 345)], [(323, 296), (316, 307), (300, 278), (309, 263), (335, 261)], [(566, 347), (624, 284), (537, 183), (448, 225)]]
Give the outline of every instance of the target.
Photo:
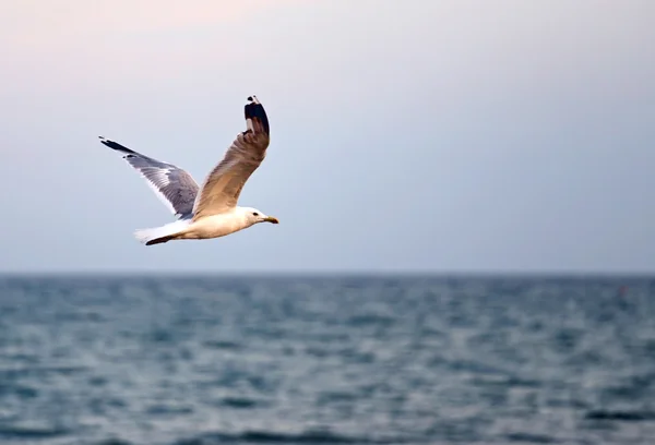
[(3, 445), (655, 444), (655, 279), (4, 277), (0, 313)]

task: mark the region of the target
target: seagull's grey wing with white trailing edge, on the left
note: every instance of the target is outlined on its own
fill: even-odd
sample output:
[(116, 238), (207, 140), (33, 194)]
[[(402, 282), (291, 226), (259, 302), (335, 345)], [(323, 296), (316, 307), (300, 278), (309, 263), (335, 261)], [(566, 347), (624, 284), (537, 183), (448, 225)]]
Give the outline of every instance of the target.
[(190, 218), (198, 194), (198, 183), (181, 168), (136, 153), (117, 142), (100, 136), (100, 142), (121, 154), (141, 173), (147, 184), (179, 219)]

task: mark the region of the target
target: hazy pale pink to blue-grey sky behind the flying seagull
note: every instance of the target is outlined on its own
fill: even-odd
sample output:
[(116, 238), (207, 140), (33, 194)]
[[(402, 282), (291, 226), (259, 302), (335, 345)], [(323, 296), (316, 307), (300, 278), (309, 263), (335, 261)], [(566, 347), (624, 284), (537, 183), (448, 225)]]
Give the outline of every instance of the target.
[[(655, 1), (4, 0), (1, 270), (655, 272)], [(172, 216), (98, 135), (198, 182), (271, 121), (240, 204)]]

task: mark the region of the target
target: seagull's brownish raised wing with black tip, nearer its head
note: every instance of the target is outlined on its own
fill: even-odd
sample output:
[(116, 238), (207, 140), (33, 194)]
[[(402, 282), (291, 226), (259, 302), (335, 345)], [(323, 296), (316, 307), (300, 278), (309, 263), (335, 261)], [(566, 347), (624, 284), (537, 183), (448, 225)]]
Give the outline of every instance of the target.
[(195, 197), (194, 220), (235, 207), (243, 184), (266, 156), (271, 132), (264, 107), (251, 96), (243, 112), (247, 130), (237, 135), (223, 160), (205, 179)]

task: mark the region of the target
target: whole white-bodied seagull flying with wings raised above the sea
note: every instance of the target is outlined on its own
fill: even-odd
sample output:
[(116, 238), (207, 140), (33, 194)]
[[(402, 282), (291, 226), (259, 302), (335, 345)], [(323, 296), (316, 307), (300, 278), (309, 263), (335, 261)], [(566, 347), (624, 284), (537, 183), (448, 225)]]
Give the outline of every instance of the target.
[(237, 205), (243, 184), (262, 164), (270, 143), (269, 118), (257, 96), (243, 107), (247, 130), (239, 133), (202, 188), (172, 164), (153, 159), (104, 136), (100, 142), (115, 149), (147, 181), (176, 220), (162, 227), (139, 229), (134, 237), (145, 245), (172, 240), (205, 240), (225, 237), (259, 222), (278, 224), (253, 207)]

